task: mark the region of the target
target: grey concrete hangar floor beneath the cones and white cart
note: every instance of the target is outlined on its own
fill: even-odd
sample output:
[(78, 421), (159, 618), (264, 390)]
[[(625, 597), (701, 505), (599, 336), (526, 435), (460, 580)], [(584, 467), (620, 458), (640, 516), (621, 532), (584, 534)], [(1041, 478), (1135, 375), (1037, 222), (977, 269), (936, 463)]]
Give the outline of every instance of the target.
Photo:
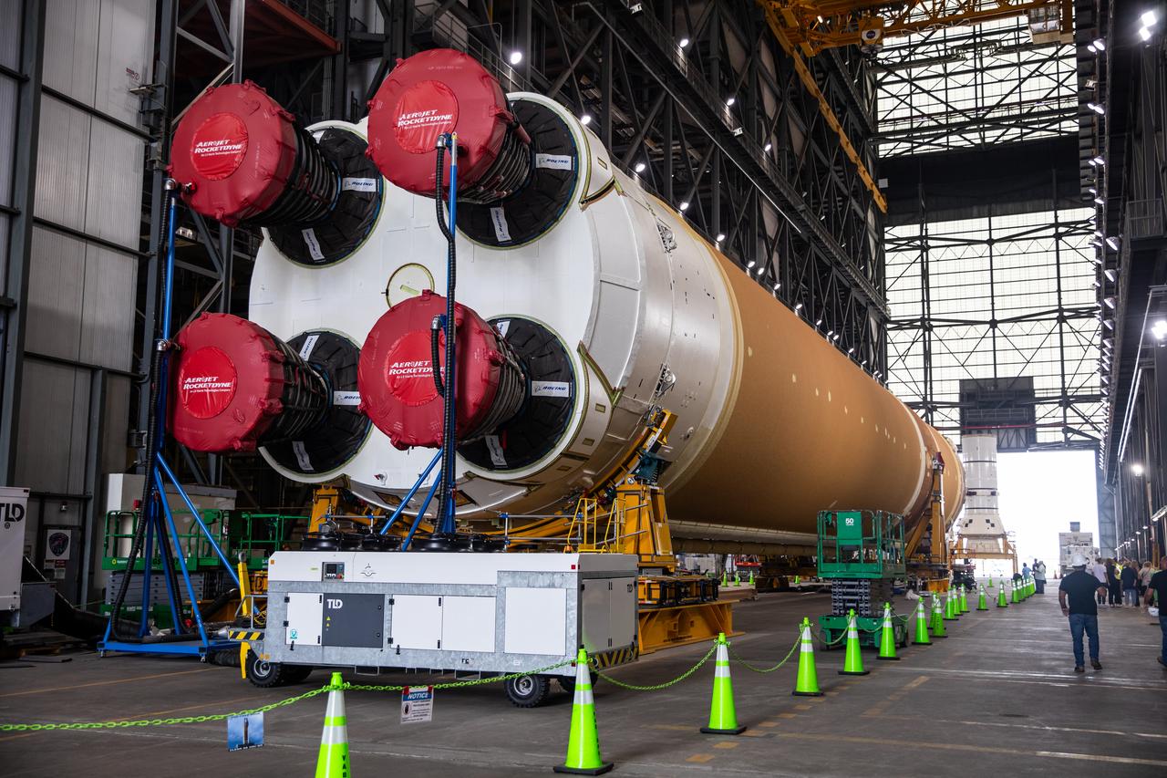
[[(776, 662), (797, 623), (830, 607), (825, 595), (763, 595), (735, 606), (747, 632), (736, 652)], [(908, 605), (901, 605), (901, 611)], [(910, 647), (897, 662), (865, 653), (871, 675), (841, 676), (841, 652), (818, 654), (823, 697), (794, 697), (795, 665), (756, 675), (733, 668), (740, 737), (698, 732), (706, 723), (712, 662), (663, 692), (601, 682), (596, 711), (605, 758), (627, 776), (1022, 776), (1167, 774), (1167, 672), (1159, 630), (1142, 611), (1100, 614), (1102, 672), (1072, 673), (1056, 595), (1007, 611), (973, 611), (950, 638)], [(635, 683), (677, 676), (706, 646), (662, 652), (613, 672)], [(263, 690), (238, 671), (189, 660), (78, 654), (68, 664), (0, 672), (0, 722), (186, 716), (256, 707), (323, 683)], [(362, 679), (349, 679), (359, 682)], [(413, 678), (414, 682), (418, 680)], [(384, 676), (382, 683), (397, 682)], [(551, 774), (565, 752), (571, 697), (536, 710), (497, 687), (439, 692), (434, 721), (399, 723), (399, 696), (350, 692), (356, 776)], [(9, 778), (55, 776), (307, 776), (314, 770), (324, 699), (267, 714), (267, 744), (228, 752), (222, 722), (124, 730), (0, 732)]]

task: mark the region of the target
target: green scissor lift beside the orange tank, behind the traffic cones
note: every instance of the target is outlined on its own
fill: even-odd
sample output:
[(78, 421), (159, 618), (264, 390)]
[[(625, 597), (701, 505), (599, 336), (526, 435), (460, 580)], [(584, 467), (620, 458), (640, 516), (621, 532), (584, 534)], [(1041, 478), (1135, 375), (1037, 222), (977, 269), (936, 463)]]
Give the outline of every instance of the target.
[[(907, 574), (903, 516), (883, 510), (820, 510), (818, 576), (832, 582), (831, 613), (818, 617), (824, 647), (841, 646), (847, 611), (855, 609), (859, 642), (876, 646), (883, 626), (883, 603), (892, 584)], [(908, 645), (908, 617), (892, 614), (895, 641)]]

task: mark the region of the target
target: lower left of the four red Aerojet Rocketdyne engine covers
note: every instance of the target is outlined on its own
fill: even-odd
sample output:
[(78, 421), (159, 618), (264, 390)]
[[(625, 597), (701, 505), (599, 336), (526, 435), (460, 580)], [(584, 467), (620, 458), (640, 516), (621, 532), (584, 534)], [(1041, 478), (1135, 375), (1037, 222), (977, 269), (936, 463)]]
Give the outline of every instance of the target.
[(254, 451), (282, 410), (284, 354), (274, 335), (229, 313), (204, 313), (175, 339), (170, 432), (195, 451)]

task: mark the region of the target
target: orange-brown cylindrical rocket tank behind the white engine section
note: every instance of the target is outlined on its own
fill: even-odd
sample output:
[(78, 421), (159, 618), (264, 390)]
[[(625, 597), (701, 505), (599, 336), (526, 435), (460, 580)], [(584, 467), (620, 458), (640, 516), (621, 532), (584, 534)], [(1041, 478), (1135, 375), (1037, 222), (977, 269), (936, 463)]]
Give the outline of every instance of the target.
[(732, 389), (701, 461), (672, 484), (680, 521), (813, 533), (825, 509), (879, 509), (914, 523), (932, 454), (945, 464), (945, 520), (960, 510), (960, 459), (796, 312), (718, 252), (733, 298)]

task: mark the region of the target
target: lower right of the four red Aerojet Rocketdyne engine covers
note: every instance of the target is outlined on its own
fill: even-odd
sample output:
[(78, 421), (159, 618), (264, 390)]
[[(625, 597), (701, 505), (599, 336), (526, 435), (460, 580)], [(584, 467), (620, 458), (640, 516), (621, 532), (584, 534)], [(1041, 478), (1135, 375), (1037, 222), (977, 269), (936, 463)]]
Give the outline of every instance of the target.
[[(386, 311), (361, 349), (361, 410), (398, 449), (441, 446), (443, 401), (434, 387), (429, 328), (433, 318), (445, 313), (446, 298), (427, 290)], [(456, 429), (474, 430), (490, 412), (498, 394), (504, 359), (497, 331), (473, 310), (455, 303), (454, 322)], [(439, 335), (438, 349), (445, 374), (445, 336)]]

